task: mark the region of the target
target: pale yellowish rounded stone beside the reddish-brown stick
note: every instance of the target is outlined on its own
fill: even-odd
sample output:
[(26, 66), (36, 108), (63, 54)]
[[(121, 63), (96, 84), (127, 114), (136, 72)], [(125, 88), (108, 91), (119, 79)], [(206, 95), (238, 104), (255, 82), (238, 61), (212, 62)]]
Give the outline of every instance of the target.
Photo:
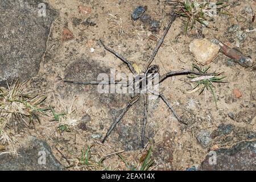
[(205, 65), (216, 59), (220, 47), (207, 39), (195, 39), (189, 45), (189, 50), (193, 53), (197, 63)]

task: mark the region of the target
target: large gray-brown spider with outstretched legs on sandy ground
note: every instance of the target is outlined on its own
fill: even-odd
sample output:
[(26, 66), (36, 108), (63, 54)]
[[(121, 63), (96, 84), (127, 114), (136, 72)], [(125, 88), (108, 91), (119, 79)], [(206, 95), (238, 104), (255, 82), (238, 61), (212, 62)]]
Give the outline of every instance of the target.
[[(160, 46), (163, 43), (164, 37), (166, 36), (168, 30), (171, 27), (171, 24), (174, 22), (176, 17), (177, 17), (177, 15), (175, 15), (175, 14), (171, 15), (170, 23), (168, 24), (166, 30), (164, 30), (164, 34), (163, 34), (162, 38), (160, 38), (160, 40), (158, 41), (158, 44), (156, 45), (156, 47), (155, 47), (154, 51), (152, 52), (152, 55), (150, 56), (150, 58), (147, 60), (146, 65), (144, 66), (143, 72), (141, 74), (138, 74), (135, 71), (135, 69), (134, 69), (133, 65), (130, 63), (130, 61), (128, 61), (125, 57), (123, 57), (119, 53), (115, 52), (113, 49), (110, 49), (109, 47), (105, 46), (105, 44), (102, 42), (102, 40), (100, 40), (102, 46), (104, 46), (104, 48), (107, 51), (113, 53), (115, 56), (117, 56), (119, 59), (121, 59), (123, 61), (123, 63), (127, 64), (131, 73), (133, 73), (133, 75), (134, 75), (134, 80), (132, 81), (132, 83), (125, 83), (126, 86), (131, 86), (131, 84), (133, 84), (131, 86), (131, 88), (133, 88), (133, 97), (131, 98), (130, 102), (125, 106), (125, 108), (123, 108), (122, 112), (118, 115), (118, 117), (115, 119), (115, 121), (112, 123), (112, 125), (110, 126), (110, 128), (109, 128), (108, 132), (106, 133), (104, 139), (102, 140), (102, 143), (105, 142), (106, 138), (108, 138), (110, 133), (112, 133), (112, 130), (117, 125), (117, 123), (119, 121), (121, 121), (123, 115), (125, 115), (127, 110), (129, 110), (130, 107), (133, 104), (135, 104), (141, 96), (143, 96), (143, 98), (144, 98), (144, 115), (143, 115), (143, 127), (142, 127), (142, 133), (141, 133), (141, 142), (142, 142), (142, 147), (144, 147), (144, 134), (145, 134), (145, 129), (146, 129), (147, 110), (148, 110), (148, 94), (154, 94), (155, 96), (161, 98), (164, 101), (164, 103), (171, 109), (172, 113), (175, 115), (177, 120), (179, 122), (187, 125), (185, 122), (181, 121), (181, 119), (176, 114), (175, 110), (172, 108), (170, 102), (168, 102), (167, 98), (164, 96), (163, 93), (155, 92), (155, 91), (158, 91), (158, 90), (148, 89), (148, 85), (150, 83), (152, 83), (151, 82), (152, 80), (154, 80), (154, 83), (152, 84), (154, 86), (154, 85), (160, 84), (160, 82), (164, 81), (167, 77), (171, 77), (171, 76), (175, 76), (175, 75), (185, 75), (185, 74), (212, 75), (212, 74), (214, 74), (214, 73), (205, 74), (205, 73), (199, 73), (199, 72), (195, 72), (195, 71), (191, 71), (191, 70), (183, 70), (183, 71), (171, 71), (171, 72), (167, 72), (163, 76), (159, 76), (159, 67), (158, 67), (158, 65), (151, 65), (152, 61), (155, 58), (156, 53), (158, 52), (158, 49), (160, 48)], [(121, 82), (111, 82), (111, 81), (109, 81), (109, 82), (99, 82), (99, 81), (79, 82), (79, 81), (67, 81), (67, 80), (65, 80), (65, 82), (71, 82), (73, 84), (83, 84), (83, 85), (88, 85), (88, 84), (91, 84), (91, 85), (123, 84), (123, 82), (121, 83)], [(136, 92), (135, 88), (138, 88), (137, 92)]]

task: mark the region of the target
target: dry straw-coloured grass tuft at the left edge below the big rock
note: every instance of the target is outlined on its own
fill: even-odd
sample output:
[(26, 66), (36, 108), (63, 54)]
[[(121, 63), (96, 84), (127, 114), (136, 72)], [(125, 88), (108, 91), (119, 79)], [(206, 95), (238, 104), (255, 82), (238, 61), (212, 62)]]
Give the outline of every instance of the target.
[(47, 110), (40, 107), (44, 100), (44, 94), (28, 91), (26, 82), (22, 84), (18, 78), (14, 79), (7, 89), (0, 88), (0, 152), (5, 151), (8, 146), (8, 152), (16, 154), (15, 132), (10, 126), (11, 122), (15, 120), (26, 126), (40, 123), (40, 114)]

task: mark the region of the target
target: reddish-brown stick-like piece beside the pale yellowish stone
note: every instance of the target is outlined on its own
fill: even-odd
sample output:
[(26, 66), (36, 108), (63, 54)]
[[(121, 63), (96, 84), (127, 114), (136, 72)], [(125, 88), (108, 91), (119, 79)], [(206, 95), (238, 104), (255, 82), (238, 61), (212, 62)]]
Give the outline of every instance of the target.
[(234, 62), (240, 64), (242, 67), (248, 68), (253, 66), (253, 60), (250, 57), (244, 56), (241, 52), (226, 46), (224, 43), (218, 41), (217, 39), (214, 39), (213, 42), (221, 47), (221, 53), (224, 53), (224, 55), (230, 57), (234, 60)]

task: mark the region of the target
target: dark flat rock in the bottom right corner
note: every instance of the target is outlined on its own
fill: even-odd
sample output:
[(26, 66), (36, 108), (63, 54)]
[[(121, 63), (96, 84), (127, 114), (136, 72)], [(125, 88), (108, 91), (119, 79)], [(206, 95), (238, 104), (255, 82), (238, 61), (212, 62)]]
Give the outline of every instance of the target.
[(206, 171), (255, 171), (256, 142), (241, 142), (232, 148), (216, 150), (216, 164), (209, 164), (207, 156), (201, 163), (201, 170)]

